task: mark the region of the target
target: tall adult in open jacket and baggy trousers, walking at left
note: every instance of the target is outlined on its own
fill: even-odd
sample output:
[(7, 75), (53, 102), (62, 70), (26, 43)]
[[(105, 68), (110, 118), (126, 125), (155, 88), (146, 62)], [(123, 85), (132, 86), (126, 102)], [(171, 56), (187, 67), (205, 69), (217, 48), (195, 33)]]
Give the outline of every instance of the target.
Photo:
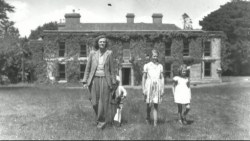
[(116, 84), (112, 51), (107, 50), (105, 36), (99, 36), (95, 42), (95, 51), (91, 51), (86, 65), (83, 83), (89, 89), (89, 99), (96, 114), (97, 128), (103, 129), (111, 118), (110, 99)]

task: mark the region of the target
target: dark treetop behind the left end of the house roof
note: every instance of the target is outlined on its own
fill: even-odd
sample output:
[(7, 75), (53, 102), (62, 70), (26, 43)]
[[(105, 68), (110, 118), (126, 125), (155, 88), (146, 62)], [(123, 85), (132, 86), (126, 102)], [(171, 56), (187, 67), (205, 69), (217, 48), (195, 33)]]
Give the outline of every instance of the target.
[(49, 22), (43, 24), (43, 26), (38, 26), (36, 30), (31, 31), (29, 39), (37, 40), (40, 38), (43, 30), (57, 30), (58, 25), (57, 22)]

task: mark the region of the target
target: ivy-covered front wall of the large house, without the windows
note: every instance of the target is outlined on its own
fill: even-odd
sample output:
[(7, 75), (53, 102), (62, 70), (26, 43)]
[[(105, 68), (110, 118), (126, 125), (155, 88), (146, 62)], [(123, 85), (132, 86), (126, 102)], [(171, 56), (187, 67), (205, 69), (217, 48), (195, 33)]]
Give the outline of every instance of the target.
[[(202, 61), (202, 42), (209, 38), (224, 38), (223, 33), (209, 32), (44, 32), (44, 59), (53, 62), (52, 74), (55, 80), (59, 80), (58, 64), (66, 64), (67, 82), (78, 82), (80, 78), (80, 64), (86, 63), (87, 59), (79, 60), (80, 44), (87, 45), (87, 51), (93, 49), (94, 40), (99, 35), (106, 35), (109, 39), (109, 49), (114, 52), (114, 64), (120, 69), (123, 63), (123, 47), (129, 43), (131, 51), (130, 63), (134, 70), (135, 85), (140, 85), (143, 65), (147, 63), (147, 55), (151, 50), (157, 49), (160, 52), (159, 61), (161, 64), (171, 63), (175, 75), (177, 67), (181, 63), (188, 65), (199, 64)], [(189, 40), (190, 55), (183, 57), (183, 40)], [(165, 42), (171, 40), (171, 56), (165, 56)], [(59, 42), (65, 42), (66, 55), (58, 57)], [(47, 73), (48, 64), (43, 65), (42, 72)], [(44, 75), (43, 75), (44, 76)], [(43, 81), (49, 79), (40, 78)]]

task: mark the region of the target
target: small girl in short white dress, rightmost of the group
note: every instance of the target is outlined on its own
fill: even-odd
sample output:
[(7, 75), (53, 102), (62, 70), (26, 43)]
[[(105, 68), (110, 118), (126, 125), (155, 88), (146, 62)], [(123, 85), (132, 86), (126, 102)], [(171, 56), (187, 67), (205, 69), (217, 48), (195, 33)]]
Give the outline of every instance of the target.
[[(178, 116), (179, 122), (181, 124), (187, 124), (186, 115), (190, 111), (190, 100), (191, 100), (191, 90), (190, 90), (190, 80), (188, 77), (189, 68), (183, 64), (178, 69), (179, 76), (173, 78), (174, 84), (172, 87), (174, 94), (174, 101), (178, 106)], [(184, 113), (182, 113), (182, 106), (186, 107)]]

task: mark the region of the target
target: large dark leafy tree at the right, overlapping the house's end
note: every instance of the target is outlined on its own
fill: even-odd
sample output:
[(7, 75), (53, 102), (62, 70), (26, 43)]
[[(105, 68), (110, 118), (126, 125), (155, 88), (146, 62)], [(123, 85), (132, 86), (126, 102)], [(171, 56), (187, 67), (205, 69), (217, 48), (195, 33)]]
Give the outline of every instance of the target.
[[(250, 2), (232, 0), (199, 22), (203, 30), (227, 35), (222, 50), (224, 75), (250, 75)], [(248, 53), (248, 54), (247, 54)]]

